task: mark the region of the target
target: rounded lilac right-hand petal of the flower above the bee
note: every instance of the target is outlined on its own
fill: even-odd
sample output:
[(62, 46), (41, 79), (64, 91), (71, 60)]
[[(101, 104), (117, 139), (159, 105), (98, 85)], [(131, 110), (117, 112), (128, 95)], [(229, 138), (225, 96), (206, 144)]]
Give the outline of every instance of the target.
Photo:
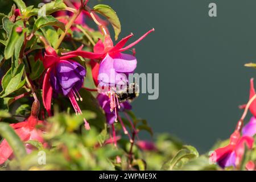
[(126, 53), (118, 53), (114, 55), (114, 69), (116, 72), (130, 73), (137, 67), (137, 59)]

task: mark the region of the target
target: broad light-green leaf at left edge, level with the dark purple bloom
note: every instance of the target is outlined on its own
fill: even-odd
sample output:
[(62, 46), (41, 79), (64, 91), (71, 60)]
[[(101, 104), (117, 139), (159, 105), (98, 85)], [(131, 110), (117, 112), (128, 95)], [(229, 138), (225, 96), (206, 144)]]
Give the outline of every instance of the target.
[(22, 82), (22, 74), (24, 71), (24, 64), (20, 64), (19, 67), (15, 70), (14, 74), (11, 73), (11, 68), (9, 71), (7, 71), (6, 75), (3, 76), (2, 79), (2, 92), (0, 93), (0, 97), (6, 97), (10, 93), (13, 93), (15, 90), (18, 90), (20, 86), (23, 86), (23, 84), (20, 84)]

